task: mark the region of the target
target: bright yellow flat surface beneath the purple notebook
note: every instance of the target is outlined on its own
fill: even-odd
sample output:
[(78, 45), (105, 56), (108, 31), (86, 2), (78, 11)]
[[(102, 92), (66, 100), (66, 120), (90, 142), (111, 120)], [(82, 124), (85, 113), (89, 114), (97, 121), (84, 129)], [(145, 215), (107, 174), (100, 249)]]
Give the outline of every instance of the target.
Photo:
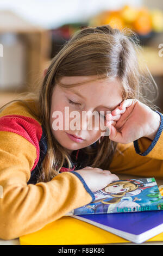
[[(128, 179), (137, 177), (119, 175), (119, 178)], [(158, 186), (163, 185), (163, 180), (156, 179), (156, 182)], [(163, 233), (147, 240), (147, 242), (155, 241), (163, 241)], [(108, 245), (115, 243), (131, 244), (130, 241), (120, 236), (68, 216), (49, 223), (41, 230), (32, 234), (20, 237), (21, 245)]]

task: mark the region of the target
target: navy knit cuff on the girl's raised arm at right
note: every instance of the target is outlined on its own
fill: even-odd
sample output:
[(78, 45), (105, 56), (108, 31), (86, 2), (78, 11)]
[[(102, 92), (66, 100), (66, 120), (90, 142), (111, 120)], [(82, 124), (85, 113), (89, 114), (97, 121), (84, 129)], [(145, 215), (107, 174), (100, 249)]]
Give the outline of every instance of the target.
[(155, 111), (155, 112), (160, 115), (161, 123), (160, 123), (160, 126), (159, 126), (159, 130), (156, 133), (156, 136), (153, 139), (151, 145), (149, 145), (149, 147), (147, 148), (147, 150), (145, 152), (141, 153), (140, 148), (139, 148), (139, 144), (138, 144), (138, 139), (136, 139), (136, 141), (134, 141), (135, 151), (136, 151), (137, 154), (139, 154), (141, 156), (147, 156), (152, 151), (152, 149), (155, 147), (155, 144), (158, 142), (158, 139), (160, 138), (160, 135), (161, 135), (162, 130), (163, 130), (163, 115), (158, 111)]

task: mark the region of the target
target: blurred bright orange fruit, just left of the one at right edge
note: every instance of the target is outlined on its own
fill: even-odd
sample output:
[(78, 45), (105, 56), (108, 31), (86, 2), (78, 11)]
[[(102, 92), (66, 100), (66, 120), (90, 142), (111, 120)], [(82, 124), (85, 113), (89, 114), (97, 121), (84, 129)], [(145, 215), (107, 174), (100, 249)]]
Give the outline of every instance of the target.
[(146, 8), (142, 8), (133, 23), (133, 28), (139, 34), (146, 35), (152, 31), (152, 19)]

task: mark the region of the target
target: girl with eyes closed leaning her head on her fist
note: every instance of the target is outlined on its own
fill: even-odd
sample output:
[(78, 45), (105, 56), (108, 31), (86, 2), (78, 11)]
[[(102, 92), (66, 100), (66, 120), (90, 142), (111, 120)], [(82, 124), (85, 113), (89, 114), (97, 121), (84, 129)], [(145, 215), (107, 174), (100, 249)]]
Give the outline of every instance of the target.
[[(32, 233), (91, 203), (92, 192), (118, 173), (162, 177), (162, 114), (141, 96), (147, 80), (136, 53), (135, 41), (117, 29), (82, 29), (53, 58), (40, 91), (2, 109), (1, 239)], [(73, 111), (82, 129), (69, 127)], [(109, 136), (95, 121), (87, 129), (93, 111), (104, 113), (99, 119)]]

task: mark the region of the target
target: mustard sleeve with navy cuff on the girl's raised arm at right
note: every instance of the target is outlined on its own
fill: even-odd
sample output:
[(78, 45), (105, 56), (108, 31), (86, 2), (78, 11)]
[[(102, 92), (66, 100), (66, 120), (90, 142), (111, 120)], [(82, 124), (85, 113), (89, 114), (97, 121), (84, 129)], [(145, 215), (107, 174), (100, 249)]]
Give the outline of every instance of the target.
[(112, 173), (163, 178), (163, 116), (159, 114), (161, 122), (153, 141), (142, 137), (128, 144), (118, 144), (109, 166)]

